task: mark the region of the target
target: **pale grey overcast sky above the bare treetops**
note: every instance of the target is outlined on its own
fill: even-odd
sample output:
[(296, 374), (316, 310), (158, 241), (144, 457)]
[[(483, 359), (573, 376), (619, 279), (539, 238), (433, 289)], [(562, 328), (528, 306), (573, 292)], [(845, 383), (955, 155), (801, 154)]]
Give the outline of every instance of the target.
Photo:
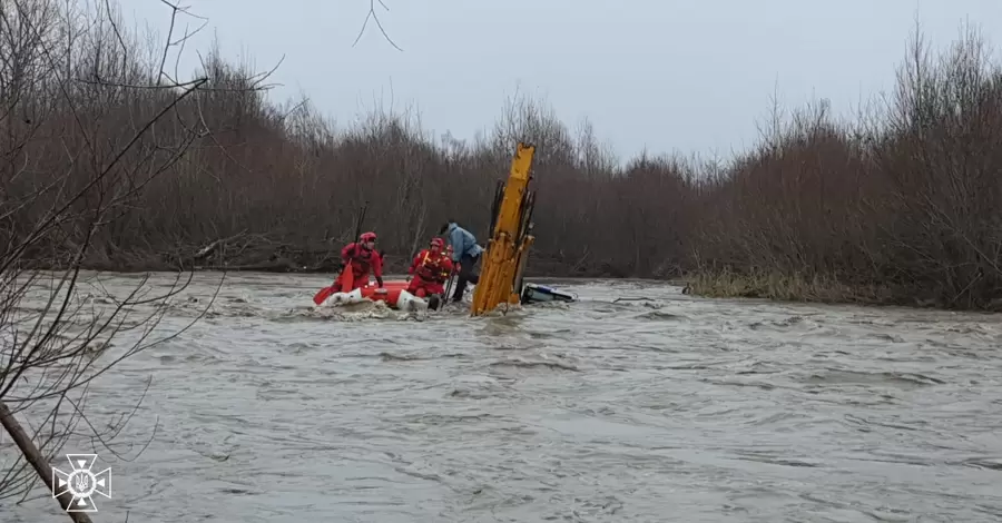
[[(647, 147), (730, 156), (757, 137), (778, 93), (837, 112), (887, 90), (914, 31), (943, 47), (964, 20), (1002, 45), (1002, 0), (384, 0), (353, 47), (369, 0), (181, 0), (208, 19), (195, 40), (250, 57), (338, 122), (379, 103), (472, 138), (507, 98), (544, 97), (589, 118), (621, 156)], [(166, 29), (160, 0), (124, 0), (126, 20)], [(198, 20), (187, 19), (193, 27)], [(189, 48), (190, 49), (190, 48)], [(194, 70), (197, 57), (186, 52)]]

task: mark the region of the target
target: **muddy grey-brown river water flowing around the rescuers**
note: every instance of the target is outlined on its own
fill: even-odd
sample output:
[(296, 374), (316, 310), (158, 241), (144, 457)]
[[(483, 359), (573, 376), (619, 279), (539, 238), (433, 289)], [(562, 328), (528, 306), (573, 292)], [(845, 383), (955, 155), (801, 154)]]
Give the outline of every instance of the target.
[[(95, 522), (1002, 521), (1000, 316), (563, 282), (580, 302), (409, 317), (316, 310), (327, 282), (228, 275), (95, 383), (99, 417), (153, 378), (137, 458), (63, 448), (112, 470)], [(38, 491), (0, 521), (69, 521)]]

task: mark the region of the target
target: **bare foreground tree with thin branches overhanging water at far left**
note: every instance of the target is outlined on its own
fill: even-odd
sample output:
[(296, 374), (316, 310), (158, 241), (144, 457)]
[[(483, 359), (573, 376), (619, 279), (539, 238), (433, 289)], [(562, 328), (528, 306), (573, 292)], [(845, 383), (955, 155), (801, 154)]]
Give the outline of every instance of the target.
[(90, 384), (184, 332), (156, 328), (191, 275), (166, 293), (144, 279), (118, 296), (98, 282), (86, 296), (81, 268), (119, 250), (151, 188), (190, 176), (186, 157), (215, 139), (207, 100), (264, 88), (263, 78), (220, 86), (208, 68), (180, 80), (179, 57), (169, 73), (193, 33), (177, 29), (186, 9), (161, 1), (170, 30), (144, 57), (110, 0), (0, 0), (0, 424), (22, 455), (2, 471), (0, 499), (23, 501), (39, 480), (51, 490), (49, 461), (68, 441), (120, 455), (111, 443), (135, 409), (91, 422)]

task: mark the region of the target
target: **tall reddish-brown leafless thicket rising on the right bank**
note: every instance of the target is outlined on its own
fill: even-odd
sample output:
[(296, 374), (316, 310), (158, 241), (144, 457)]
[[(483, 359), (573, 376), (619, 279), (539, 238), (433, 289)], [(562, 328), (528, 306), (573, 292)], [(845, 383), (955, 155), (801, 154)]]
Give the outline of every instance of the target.
[(918, 36), (868, 119), (836, 124), (813, 108), (736, 164), (709, 195), (717, 216), (691, 238), (704, 267), (999, 308), (1002, 68), (971, 28), (939, 60)]

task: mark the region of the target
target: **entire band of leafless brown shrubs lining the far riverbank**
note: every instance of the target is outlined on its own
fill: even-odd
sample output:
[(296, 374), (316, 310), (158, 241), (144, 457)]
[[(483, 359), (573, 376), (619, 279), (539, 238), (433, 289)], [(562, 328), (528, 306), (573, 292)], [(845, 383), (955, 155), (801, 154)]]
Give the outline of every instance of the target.
[[(9, 241), (48, 216), (53, 188), (82, 187), (109, 160), (67, 164), (68, 151), (120, 146), (175, 93), (109, 88), (149, 76), (148, 50), (120, 34), (102, 37), (121, 52), (85, 78), (0, 70)], [(216, 52), (199, 71), (206, 88), (155, 128), (171, 147), (136, 149), (101, 182), (119, 195), (115, 215), (92, 228), (68, 221), (19, 259), (66, 266), (88, 241), (81, 264), (96, 269), (331, 270), (369, 201), (365, 228), (399, 269), (449, 216), (484, 239), (494, 181), (527, 140), (538, 146), (530, 274), (686, 276), (714, 296), (998, 307), (1002, 68), (970, 30), (940, 56), (916, 39), (898, 72), (893, 93), (852, 121), (824, 101), (786, 118), (776, 108), (760, 144), (735, 159), (622, 165), (589, 125), (568, 127), (527, 99), (471, 141), (436, 139), (409, 114), (338, 129), (308, 100), (269, 101), (259, 78)], [(60, 90), (75, 102), (47, 101)], [(158, 155), (169, 161), (153, 176)]]

